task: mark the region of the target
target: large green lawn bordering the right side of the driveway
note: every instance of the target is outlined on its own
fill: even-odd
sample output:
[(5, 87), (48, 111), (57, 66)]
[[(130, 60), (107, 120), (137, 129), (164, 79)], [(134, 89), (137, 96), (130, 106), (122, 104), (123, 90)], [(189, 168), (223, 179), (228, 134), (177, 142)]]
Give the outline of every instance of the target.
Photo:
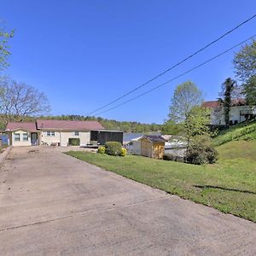
[(220, 154), (218, 163), (204, 166), (132, 155), (114, 157), (79, 151), (66, 154), (256, 222), (256, 141), (225, 143), (217, 149)]

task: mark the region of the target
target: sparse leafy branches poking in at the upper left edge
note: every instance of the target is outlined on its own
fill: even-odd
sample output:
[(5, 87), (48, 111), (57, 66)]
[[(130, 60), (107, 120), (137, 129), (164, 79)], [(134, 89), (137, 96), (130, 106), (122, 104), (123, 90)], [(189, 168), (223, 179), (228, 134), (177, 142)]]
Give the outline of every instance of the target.
[(0, 70), (9, 66), (9, 63), (7, 62), (10, 55), (8, 42), (9, 38), (14, 37), (14, 34), (14, 31), (6, 32), (0, 27)]

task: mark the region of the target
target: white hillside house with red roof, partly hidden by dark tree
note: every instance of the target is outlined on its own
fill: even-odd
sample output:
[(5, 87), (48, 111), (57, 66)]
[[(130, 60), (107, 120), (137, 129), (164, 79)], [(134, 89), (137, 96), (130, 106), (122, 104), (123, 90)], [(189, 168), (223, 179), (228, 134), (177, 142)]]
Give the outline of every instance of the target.
[[(211, 125), (225, 125), (224, 107), (219, 101), (203, 102), (202, 107), (212, 109)], [(244, 99), (232, 100), (230, 107), (230, 125), (236, 125), (255, 116), (255, 106), (247, 106)]]

